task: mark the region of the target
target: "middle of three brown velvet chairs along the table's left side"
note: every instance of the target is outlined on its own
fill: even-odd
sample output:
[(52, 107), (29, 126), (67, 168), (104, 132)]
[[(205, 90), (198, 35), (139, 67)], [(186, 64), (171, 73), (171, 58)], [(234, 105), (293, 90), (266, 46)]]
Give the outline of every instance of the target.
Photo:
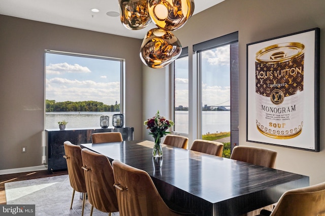
[(88, 200), (91, 204), (90, 215), (92, 215), (93, 207), (109, 212), (109, 215), (118, 211), (116, 191), (113, 186), (113, 168), (110, 161), (105, 155), (88, 149), (82, 149), (81, 155)]

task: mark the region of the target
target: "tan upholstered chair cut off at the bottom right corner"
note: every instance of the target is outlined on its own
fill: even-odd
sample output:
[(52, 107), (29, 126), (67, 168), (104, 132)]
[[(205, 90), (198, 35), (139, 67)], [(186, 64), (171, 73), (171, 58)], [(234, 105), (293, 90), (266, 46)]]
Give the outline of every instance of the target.
[(325, 215), (325, 182), (288, 190), (280, 197), (277, 205), (271, 211), (262, 210), (258, 215), (271, 216), (306, 216)]

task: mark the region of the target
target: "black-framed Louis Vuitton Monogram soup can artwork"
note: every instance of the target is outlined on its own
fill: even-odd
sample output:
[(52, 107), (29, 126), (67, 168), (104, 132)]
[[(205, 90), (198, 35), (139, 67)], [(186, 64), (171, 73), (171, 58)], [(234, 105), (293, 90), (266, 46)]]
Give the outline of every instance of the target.
[(247, 142), (319, 151), (319, 32), (247, 44)]

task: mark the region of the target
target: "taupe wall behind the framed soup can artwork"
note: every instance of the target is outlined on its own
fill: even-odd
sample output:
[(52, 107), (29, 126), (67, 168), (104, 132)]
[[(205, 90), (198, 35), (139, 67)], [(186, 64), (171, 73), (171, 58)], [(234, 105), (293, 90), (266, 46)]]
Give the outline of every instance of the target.
[[(225, 0), (202, 13), (192, 16), (181, 29), (174, 32), (181, 41), (182, 46), (189, 48), (189, 57), (191, 57), (192, 45), (235, 31), (239, 32), (239, 144), (277, 151), (277, 168), (307, 175), (310, 177), (310, 184), (325, 181), (325, 172), (323, 171), (323, 164), (325, 164), (325, 116), (323, 113), (325, 106), (323, 100), (325, 64), (322, 61), (325, 53), (324, 18), (325, 1), (323, 0)], [(320, 152), (246, 142), (246, 44), (315, 27), (319, 27), (321, 32)], [(191, 65), (189, 68), (191, 68)], [(190, 74), (191, 76), (196, 76), (196, 70), (191, 72), (193, 73)], [(146, 85), (152, 80), (148, 81), (144, 84)], [(146, 100), (154, 104), (154, 98), (146, 98)], [(144, 107), (146, 106), (149, 105), (144, 104)], [(192, 118), (194, 119), (194, 116)]]

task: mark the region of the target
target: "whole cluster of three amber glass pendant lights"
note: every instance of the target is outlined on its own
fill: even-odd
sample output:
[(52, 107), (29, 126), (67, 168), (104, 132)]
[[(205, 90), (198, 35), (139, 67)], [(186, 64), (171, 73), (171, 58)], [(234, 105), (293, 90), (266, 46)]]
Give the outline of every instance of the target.
[(151, 68), (163, 68), (176, 60), (182, 47), (171, 32), (181, 28), (194, 12), (194, 0), (118, 0), (122, 24), (128, 29), (142, 29), (151, 22), (140, 49), (142, 62)]

